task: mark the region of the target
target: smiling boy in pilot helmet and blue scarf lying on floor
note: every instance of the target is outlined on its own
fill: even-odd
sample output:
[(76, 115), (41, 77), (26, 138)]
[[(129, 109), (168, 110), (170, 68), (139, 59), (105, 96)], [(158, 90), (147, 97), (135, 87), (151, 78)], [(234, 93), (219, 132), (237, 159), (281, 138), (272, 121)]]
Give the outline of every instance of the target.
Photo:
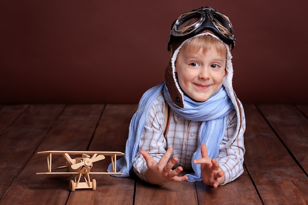
[[(129, 126), (122, 177), (152, 184), (226, 184), (243, 172), (245, 116), (232, 87), (235, 46), (227, 16), (202, 7), (172, 25), (166, 81), (142, 96)], [(191, 174), (179, 176), (183, 170)], [(108, 170), (111, 170), (111, 166)]]

